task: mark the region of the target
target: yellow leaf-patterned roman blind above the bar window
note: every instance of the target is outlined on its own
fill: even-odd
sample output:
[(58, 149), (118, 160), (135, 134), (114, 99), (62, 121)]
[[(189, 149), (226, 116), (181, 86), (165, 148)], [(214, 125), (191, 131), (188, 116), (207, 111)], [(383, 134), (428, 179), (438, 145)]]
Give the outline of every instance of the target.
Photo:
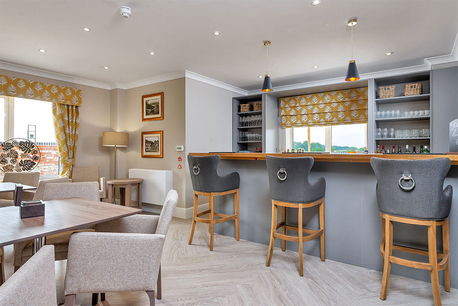
[(282, 127), (367, 123), (367, 87), (280, 99)]

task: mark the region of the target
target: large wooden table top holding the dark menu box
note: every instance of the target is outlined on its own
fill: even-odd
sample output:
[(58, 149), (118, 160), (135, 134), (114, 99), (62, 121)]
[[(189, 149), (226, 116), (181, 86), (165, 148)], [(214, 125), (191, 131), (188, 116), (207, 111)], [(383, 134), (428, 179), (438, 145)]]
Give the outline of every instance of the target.
[(21, 219), (19, 207), (0, 208), (0, 247), (141, 213), (141, 209), (68, 198), (45, 202), (45, 215)]

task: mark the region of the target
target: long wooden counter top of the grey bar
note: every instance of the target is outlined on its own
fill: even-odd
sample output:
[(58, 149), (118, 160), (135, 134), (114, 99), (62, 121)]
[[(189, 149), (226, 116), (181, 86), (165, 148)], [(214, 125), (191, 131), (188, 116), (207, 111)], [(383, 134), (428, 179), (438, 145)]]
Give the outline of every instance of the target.
[(388, 159), (421, 160), (430, 158), (448, 157), (452, 165), (458, 165), (457, 154), (330, 154), (330, 153), (189, 153), (192, 156), (219, 155), (226, 160), (265, 160), (266, 155), (280, 157), (303, 157), (311, 156), (316, 162), (337, 162), (337, 163), (369, 163), (371, 157)]

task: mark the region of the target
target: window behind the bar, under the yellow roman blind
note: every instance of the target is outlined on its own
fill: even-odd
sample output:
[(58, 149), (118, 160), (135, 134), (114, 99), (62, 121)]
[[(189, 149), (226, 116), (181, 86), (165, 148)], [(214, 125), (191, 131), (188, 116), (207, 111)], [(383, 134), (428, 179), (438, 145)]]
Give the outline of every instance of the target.
[(346, 153), (364, 151), (367, 146), (366, 123), (326, 127), (297, 127), (292, 128), (292, 130), (294, 150)]

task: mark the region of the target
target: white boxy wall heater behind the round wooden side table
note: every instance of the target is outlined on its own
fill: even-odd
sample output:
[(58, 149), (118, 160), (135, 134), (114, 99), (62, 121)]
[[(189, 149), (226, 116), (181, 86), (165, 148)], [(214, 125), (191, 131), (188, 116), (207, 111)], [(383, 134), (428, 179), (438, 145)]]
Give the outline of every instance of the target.
[[(173, 171), (129, 169), (129, 177), (143, 178), (141, 202), (163, 205), (165, 196), (173, 189)], [(132, 200), (137, 201), (137, 190), (132, 190)]]

